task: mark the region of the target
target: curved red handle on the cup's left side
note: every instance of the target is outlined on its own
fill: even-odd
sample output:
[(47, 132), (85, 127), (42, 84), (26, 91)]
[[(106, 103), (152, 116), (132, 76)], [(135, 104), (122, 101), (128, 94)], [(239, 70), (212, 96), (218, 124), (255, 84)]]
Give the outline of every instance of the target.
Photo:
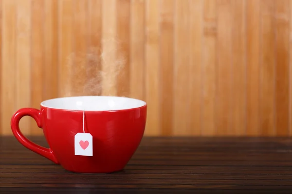
[(11, 118), (11, 129), (12, 129), (14, 136), (18, 140), (18, 142), (20, 144), (22, 144), (23, 146), (25, 146), (26, 148), (32, 150), (33, 152), (36, 152), (37, 154), (39, 154), (39, 155), (55, 162), (56, 164), (58, 164), (59, 162), (57, 161), (57, 159), (54, 155), (54, 152), (51, 148), (45, 148), (45, 147), (39, 146), (39, 145), (31, 142), (30, 140), (28, 140), (22, 134), (22, 132), (19, 129), (19, 121), (23, 116), (33, 117), (35, 119), (35, 121), (37, 122), (37, 126), (39, 128), (42, 128), (41, 111), (40, 110), (34, 109), (34, 108), (19, 109), (16, 113), (13, 114), (13, 116)]

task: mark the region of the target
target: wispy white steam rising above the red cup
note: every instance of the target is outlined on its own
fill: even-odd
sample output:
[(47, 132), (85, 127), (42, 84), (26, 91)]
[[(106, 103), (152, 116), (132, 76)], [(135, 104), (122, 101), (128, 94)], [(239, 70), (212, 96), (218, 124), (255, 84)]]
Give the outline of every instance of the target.
[(124, 73), (124, 53), (116, 39), (103, 40), (102, 48), (91, 47), (68, 56), (65, 95), (117, 96), (118, 77)]

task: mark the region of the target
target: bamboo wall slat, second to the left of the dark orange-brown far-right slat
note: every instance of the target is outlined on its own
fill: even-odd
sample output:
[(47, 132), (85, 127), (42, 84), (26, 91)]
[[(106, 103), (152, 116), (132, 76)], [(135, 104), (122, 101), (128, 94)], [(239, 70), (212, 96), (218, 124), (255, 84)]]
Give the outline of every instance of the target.
[(260, 1), (246, 0), (246, 135), (259, 135)]

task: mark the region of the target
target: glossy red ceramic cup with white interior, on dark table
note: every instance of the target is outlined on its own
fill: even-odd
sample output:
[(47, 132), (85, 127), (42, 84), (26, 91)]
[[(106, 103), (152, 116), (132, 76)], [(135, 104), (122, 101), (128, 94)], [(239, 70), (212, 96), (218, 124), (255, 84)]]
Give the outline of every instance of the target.
[[(146, 102), (134, 98), (61, 97), (41, 102), (40, 110), (19, 109), (12, 116), (11, 129), (23, 146), (68, 171), (110, 173), (122, 170), (139, 146), (146, 112)], [(27, 115), (43, 129), (50, 148), (38, 146), (21, 133), (19, 121)], [(77, 133), (91, 134), (92, 156), (76, 155)], [(82, 148), (88, 146), (88, 142), (79, 143)]]

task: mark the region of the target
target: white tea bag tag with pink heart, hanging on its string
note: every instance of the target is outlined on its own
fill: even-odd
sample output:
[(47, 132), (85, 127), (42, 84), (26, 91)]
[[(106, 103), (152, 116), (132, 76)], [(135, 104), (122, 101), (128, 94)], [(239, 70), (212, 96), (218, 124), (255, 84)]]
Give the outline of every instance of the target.
[(83, 111), (83, 133), (77, 133), (74, 137), (75, 155), (92, 156), (92, 135), (84, 130), (84, 111)]

